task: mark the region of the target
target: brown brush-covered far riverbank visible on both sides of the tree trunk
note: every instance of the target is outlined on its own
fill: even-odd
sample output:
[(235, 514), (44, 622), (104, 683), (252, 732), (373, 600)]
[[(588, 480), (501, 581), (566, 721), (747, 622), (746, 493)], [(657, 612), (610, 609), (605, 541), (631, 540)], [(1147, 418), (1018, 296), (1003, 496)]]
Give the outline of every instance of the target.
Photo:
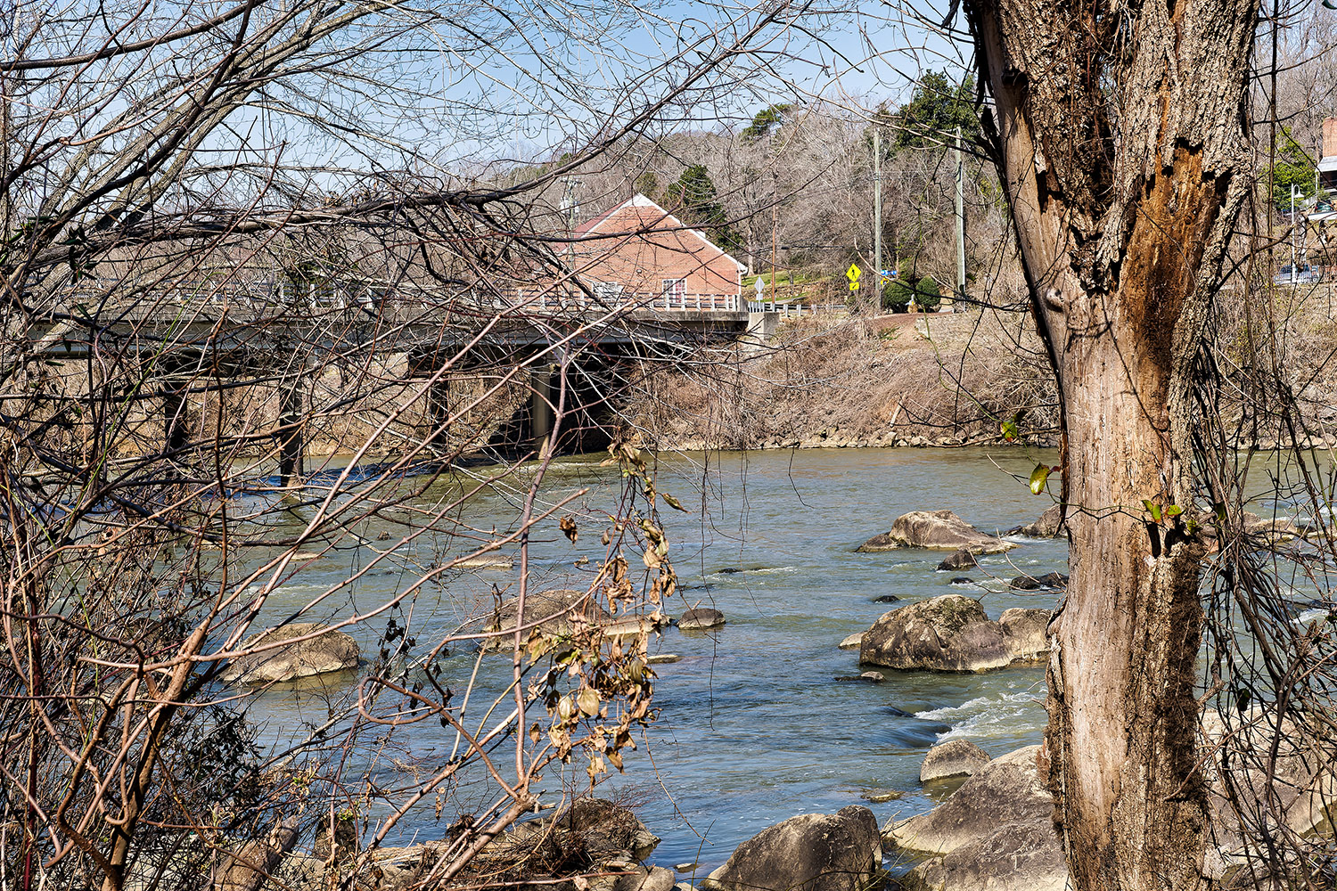
[[(1265, 349), (1222, 313), (1227, 435), (1239, 448), (1337, 446), (1337, 329), (1308, 305), (1278, 323)], [(1059, 422), (1029, 315), (993, 310), (787, 319), (762, 346), (647, 366), (624, 415), (646, 445), (686, 452), (1054, 446)]]

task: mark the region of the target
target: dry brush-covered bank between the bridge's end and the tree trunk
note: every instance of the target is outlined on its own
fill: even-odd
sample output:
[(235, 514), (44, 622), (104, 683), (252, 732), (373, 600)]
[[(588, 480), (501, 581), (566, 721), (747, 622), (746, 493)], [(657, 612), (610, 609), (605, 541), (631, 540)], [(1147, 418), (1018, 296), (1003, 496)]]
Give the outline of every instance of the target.
[(1046, 439), (1055, 395), (1028, 317), (996, 311), (785, 322), (674, 370), (646, 369), (626, 414), (658, 448), (761, 449)]

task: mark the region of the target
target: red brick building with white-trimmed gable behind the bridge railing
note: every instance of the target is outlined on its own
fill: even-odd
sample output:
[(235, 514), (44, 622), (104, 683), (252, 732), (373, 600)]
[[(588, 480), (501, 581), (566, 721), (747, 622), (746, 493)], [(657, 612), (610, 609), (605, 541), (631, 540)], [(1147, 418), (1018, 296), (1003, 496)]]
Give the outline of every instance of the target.
[(745, 267), (644, 195), (576, 227), (578, 275), (607, 301), (738, 309)]

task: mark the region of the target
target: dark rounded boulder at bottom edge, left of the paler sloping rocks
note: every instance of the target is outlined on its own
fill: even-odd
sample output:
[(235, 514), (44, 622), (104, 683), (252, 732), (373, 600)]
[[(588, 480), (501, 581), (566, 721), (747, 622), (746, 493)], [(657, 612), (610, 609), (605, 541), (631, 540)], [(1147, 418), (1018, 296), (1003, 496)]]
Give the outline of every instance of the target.
[(877, 818), (852, 804), (805, 814), (762, 830), (738, 846), (702, 883), (715, 891), (856, 891), (882, 862)]

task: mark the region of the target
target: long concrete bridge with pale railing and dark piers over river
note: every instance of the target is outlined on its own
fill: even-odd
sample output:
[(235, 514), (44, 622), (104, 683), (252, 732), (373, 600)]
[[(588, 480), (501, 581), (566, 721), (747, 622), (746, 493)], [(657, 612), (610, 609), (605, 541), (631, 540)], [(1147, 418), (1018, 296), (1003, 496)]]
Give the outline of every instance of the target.
[[(749, 307), (737, 294), (603, 299), (551, 289), (481, 293), (282, 279), (95, 279), (63, 289), (44, 303), (49, 309), (29, 319), (27, 341), (45, 359), (87, 361), (100, 354), (147, 363), (146, 390), (160, 399), (168, 450), (183, 443), (180, 419), (187, 398), (199, 394), (193, 382), (202, 367), (213, 378), (279, 381), (274, 437), (281, 442), (285, 485), (302, 474), (302, 389), (337, 359), (396, 357), (406, 378), (420, 381), (444, 379), (445, 367), (523, 370), (528, 405), (503, 425), (511, 445), (521, 448), (551, 434), (563, 375), (578, 421), (562, 448), (587, 450), (607, 443), (606, 433), (591, 434), (604, 426), (600, 413), (607, 414), (610, 387), (602, 377), (616, 377), (618, 366), (632, 361), (677, 361), (702, 345), (762, 339), (783, 313)], [(448, 415), (447, 385), (433, 385), (431, 403), (436, 418)]]

